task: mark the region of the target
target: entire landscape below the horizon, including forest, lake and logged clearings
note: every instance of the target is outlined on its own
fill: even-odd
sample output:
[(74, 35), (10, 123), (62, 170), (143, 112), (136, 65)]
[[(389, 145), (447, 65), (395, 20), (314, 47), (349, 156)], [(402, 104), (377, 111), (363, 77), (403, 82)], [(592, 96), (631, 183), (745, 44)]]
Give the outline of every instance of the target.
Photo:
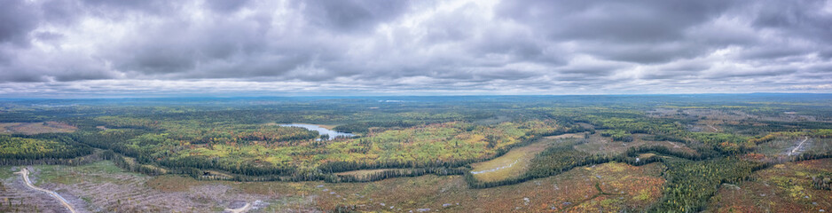
[(4, 100), (0, 211), (818, 212), (832, 209), (829, 106), (824, 94)]

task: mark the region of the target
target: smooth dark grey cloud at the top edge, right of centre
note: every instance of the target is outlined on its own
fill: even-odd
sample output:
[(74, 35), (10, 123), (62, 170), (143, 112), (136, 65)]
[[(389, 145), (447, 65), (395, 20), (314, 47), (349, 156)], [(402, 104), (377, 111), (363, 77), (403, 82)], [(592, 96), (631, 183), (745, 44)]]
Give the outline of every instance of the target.
[(554, 39), (627, 43), (675, 41), (683, 29), (718, 16), (732, 4), (701, 1), (503, 1), (498, 14), (528, 23)]

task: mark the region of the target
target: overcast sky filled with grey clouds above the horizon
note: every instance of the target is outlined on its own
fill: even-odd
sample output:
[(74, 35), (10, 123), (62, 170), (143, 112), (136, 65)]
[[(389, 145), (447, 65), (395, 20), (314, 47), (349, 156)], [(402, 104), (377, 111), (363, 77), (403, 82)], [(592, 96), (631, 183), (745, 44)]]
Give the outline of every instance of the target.
[(0, 5), (0, 98), (832, 92), (832, 1)]

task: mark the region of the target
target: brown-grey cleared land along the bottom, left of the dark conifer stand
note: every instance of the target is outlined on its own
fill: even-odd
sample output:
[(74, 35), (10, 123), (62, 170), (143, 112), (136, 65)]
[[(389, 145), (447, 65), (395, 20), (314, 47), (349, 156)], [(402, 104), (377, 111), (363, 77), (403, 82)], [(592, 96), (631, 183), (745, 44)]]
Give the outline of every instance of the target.
[[(39, 187), (80, 198), (75, 200), (82, 202), (79, 210), (118, 212), (216, 212), (245, 209), (247, 205), (249, 212), (315, 212), (338, 206), (396, 212), (618, 211), (644, 208), (657, 201), (664, 183), (659, 177), (663, 170), (659, 163), (641, 167), (605, 163), (487, 189), (471, 189), (459, 176), (329, 184), (200, 181), (175, 175), (147, 177), (119, 170), (111, 162), (77, 167), (35, 166), (35, 170)], [(25, 197), (14, 200), (20, 199), (25, 206), (62, 209), (48, 195), (45, 199), (17, 196)], [(40, 201), (53, 204), (36, 203)]]

